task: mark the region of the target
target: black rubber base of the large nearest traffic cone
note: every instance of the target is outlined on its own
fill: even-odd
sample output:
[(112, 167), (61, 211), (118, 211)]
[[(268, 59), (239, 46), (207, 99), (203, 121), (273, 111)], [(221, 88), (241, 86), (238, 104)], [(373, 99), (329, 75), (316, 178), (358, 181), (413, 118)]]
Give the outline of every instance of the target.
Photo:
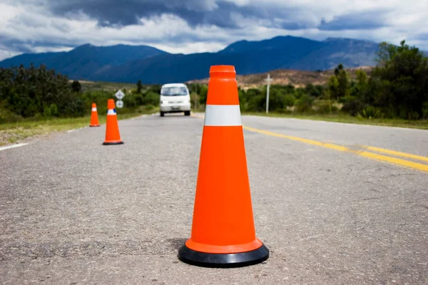
[(240, 252), (238, 254), (210, 254), (206, 252), (195, 252), (185, 245), (178, 250), (178, 259), (181, 261), (202, 267), (232, 268), (258, 264), (269, 258), (269, 249), (262, 244), (258, 249), (251, 252)]

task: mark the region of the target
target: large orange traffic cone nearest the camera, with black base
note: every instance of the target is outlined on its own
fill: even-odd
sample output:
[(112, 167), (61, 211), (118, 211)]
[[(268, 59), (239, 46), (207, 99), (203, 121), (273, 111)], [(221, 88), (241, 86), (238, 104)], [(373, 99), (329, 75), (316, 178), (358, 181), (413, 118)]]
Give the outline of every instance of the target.
[(208, 267), (258, 264), (269, 249), (255, 236), (234, 66), (212, 66), (190, 239), (178, 251)]

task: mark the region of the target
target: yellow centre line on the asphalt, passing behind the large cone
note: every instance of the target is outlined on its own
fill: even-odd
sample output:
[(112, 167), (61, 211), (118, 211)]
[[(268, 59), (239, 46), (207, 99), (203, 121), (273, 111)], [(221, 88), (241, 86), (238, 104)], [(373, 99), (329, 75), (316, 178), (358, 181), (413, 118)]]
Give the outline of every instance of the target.
[[(193, 115), (193, 117), (203, 119), (203, 117), (198, 116), (198, 115)], [(259, 130), (259, 129), (250, 128), (250, 127), (247, 127), (247, 126), (243, 126), (243, 128), (245, 130), (250, 130), (250, 131), (255, 132), (255, 133), (261, 133), (263, 135), (270, 135), (270, 136), (276, 137), (276, 138), (285, 138), (287, 140), (295, 140), (297, 142), (305, 142), (305, 143), (310, 144), (310, 145), (317, 145), (317, 146), (320, 146), (320, 147), (326, 147), (326, 148), (330, 148), (331, 150), (338, 150), (338, 151), (341, 151), (341, 152), (350, 152), (350, 153), (353, 153), (355, 155), (360, 155), (362, 157), (370, 158), (372, 160), (378, 160), (378, 161), (382, 161), (382, 162), (389, 162), (389, 163), (391, 163), (393, 165), (399, 165), (399, 166), (402, 166), (402, 167), (412, 168), (414, 170), (421, 170), (423, 172), (428, 172), (428, 165), (423, 165), (421, 163), (412, 162), (412, 161), (408, 161), (408, 160), (402, 160), (402, 159), (399, 159), (399, 158), (396, 158), (396, 157), (389, 157), (389, 156), (386, 156), (386, 155), (378, 155), (376, 153), (367, 152), (365, 150), (355, 150), (355, 149), (351, 149), (351, 148), (348, 148), (348, 147), (344, 147), (342, 145), (335, 145), (335, 144), (329, 143), (329, 142), (319, 142), (317, 140), (308, 140), (306, 138), (294, 137), (292, 135), (282, 135), (280, 133), (272, 133), (272, 132), (269, 132), (267, 130)], [(411, 155), (411, 154), (404, 153), (404, 152), (396, 152), (394, 150), (384, 150), (384, 149), (381, 149), (381, 148), (378, 148), (378, 147), (363, 147), (363, 148), (365, 148), (367, 150), (373, 150), (373, 151), (388, 153), (390, 155), (394, 154), (394, 155), (399, 155), (399, 156), (402, 156), (402, 157), (408, 157), (408, 158), (414, 158), (414, 159), (417, 159), (416, 157), (419, 157), (419, 160), (421, 158), (421, 156), (419, 156), (419, 155)], [(382, 151), (380, 151), (380, 150), (382, 150)], [(428, 161), (427, 157), (422, 157), (422, 158), (423, 158), (422, 160), (427, 160)]]

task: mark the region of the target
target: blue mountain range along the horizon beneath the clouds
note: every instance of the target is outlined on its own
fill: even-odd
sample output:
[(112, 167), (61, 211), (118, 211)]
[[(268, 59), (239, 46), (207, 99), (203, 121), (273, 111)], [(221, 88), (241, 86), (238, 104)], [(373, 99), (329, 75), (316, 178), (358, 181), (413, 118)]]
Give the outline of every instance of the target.
[(24, 53), (0, 61), (0, 67), (45, 64), (71, 79), (146, 84), (185, 82), (209, 76), (210, 66), (235, 66), (238, 74), (277, 69), (325, 71), (373, 66), (378, 43), (351, 38), (313, 41), (277, 36), (263, 41), (238, 41), (215, 53), (167, 53), (151, 46), (92, 46), (68, 52)]

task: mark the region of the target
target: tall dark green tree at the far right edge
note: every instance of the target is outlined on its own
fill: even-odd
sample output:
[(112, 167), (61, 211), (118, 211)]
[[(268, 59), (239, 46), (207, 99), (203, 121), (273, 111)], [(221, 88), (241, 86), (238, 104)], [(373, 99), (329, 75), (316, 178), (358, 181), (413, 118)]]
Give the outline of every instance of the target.
[(380, 43), (369, 85), (374, 105), (390, 116), (422, 118), (428, 101), (428, 59), (405, 41), (400, 46)]

